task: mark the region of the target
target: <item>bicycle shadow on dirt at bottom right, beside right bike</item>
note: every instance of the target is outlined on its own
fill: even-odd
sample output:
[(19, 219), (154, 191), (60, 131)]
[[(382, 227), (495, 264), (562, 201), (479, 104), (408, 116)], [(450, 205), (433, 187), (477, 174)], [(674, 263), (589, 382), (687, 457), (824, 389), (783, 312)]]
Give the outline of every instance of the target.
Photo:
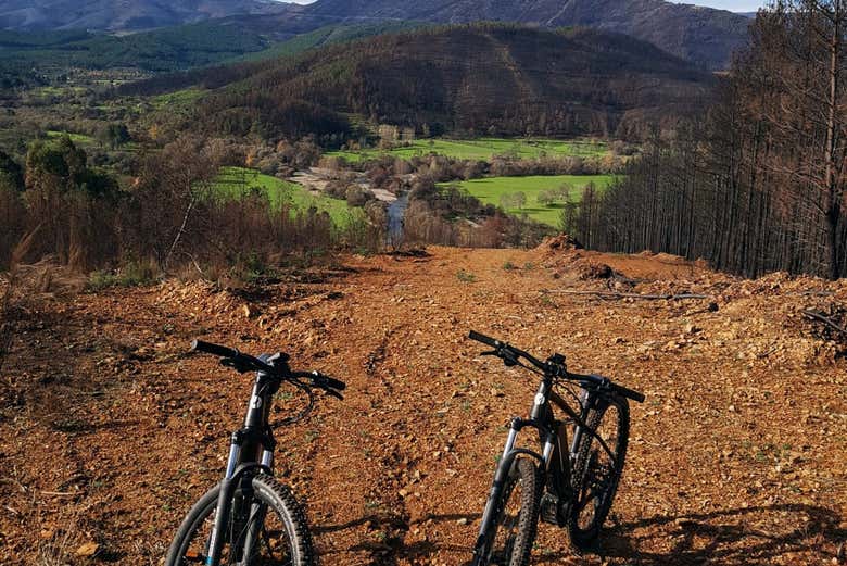
[[(794, 520), (787, 520), (786, 514), (794, 515)], [(783, 527), (776, 527), (779, 532), (755, 527), (745, 520), (745, 515), (778, 515)], [(804, 526), (785, 528), (796, 521)], [(797, 559), (795, 555), (804, 552), (818, 553), (829, 561), (834, 555), (827, 555), (824, 548), (837, 548), (847, 539), (847, 529), (839, 525), (842, 517), (833, 510), (793, 503), (657, 515), (605, 530), (598, 548), (592, 552), (603, 562), (619, 558), (644, 566), (772, 564)], [(554, 564), (568, 555), (540, 556), (538, 564)]]

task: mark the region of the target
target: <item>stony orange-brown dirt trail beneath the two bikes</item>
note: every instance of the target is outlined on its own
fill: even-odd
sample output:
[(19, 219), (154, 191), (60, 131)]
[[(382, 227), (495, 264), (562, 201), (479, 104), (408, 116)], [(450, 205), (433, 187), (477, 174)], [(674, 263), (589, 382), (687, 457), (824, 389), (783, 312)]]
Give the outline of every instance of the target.
[[(625, 277), (597, 279), (601, 264)], [(343, 265), (258, 291), (167, 282), (30, 305), (2, 376), (0, 562), (66, 550), (78, 564), (161, 563), (222, 473), (249, 394), (250, 377), (186, 355), (203, 337), (283, 349), (347, 381), (343, 402), (278, 430), (279, 473), (307, 501), (324, 564), (463, 564), (503, 426), (534, 393), (530, 374), (478, 355), (473, 328), (648, 398), (632, 407), (599, 554), (542, 526), (534, 564), (833, 564), (847, 537), (847, 365), (799, 312), (844, 304), (847, 282), (548, 248)], [(558, 292), (621, 286), (710, 299)], [(75, 557), (85, 542), (97, 554)]]

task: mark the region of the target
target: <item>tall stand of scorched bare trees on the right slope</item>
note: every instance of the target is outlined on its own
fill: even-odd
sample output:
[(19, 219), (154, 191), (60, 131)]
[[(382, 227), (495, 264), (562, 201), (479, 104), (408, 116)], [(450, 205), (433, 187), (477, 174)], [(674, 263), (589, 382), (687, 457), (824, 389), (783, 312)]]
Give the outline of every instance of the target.
[(583, 203), (587, 246), (847, 276), (847, 5), (760, 13), (721, 102)]

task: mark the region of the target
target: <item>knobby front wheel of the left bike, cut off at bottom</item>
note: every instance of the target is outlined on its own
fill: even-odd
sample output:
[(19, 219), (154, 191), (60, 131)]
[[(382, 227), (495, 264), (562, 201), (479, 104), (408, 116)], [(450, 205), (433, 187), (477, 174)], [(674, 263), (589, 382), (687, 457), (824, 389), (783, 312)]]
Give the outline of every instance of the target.
[[(253, 478), (252, 488), (250, 493), (239, 489), (233, 496), (219, 564), (316, 565), (306, 515), (291, 490), (265, 474)], [(191, 507), (170, 544), (165, 566), (206, 564), (219, 493), (216, 486)]]

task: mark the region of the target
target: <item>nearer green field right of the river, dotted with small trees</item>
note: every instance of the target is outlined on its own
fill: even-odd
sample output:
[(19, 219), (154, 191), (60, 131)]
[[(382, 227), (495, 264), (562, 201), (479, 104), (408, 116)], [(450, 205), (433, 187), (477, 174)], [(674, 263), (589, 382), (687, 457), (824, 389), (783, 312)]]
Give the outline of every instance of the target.
[(442, 186), (457, 185), (467, 190), (468, 193), (476, 197), (486, 204), (501, 205), (501, 198), (504, 194), (522, 192), (527, 196), (527, 203), (522, 209), (510, 207), (506, 212), (509, 214), (526, 214), (530, 218), (559, 227), (561, 210), (565, 207), (564, 199), (557, 199), (552, 205), (543, 205), (538, 202), (539, 193), (542, 191), (556, 190), (562, 185), (569, 188), (568, 199), (572, 202), (579, 202), (582, 198), (582, 188), (589, 183), (603, 190), (614, 180), (615, 175), (552, 175), (552, 176), (531, 176), (531, 177), (488, 177), (482, 179), (471, 179), (460, 183), (443, 183)]

